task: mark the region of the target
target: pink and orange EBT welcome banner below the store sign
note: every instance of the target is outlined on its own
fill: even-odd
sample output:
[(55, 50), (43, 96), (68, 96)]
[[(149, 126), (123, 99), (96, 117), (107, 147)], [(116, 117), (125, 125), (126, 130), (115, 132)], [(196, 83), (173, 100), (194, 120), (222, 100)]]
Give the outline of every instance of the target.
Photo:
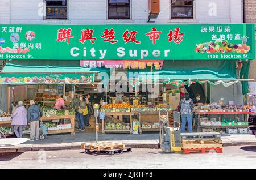
[(80, 66), (89, 67), (89, 68), (124, 68), (124, 69), (140, 69), (144, 70), (147, 67), (153, 68), (155, 70), (161, 70), (163, 67), (163, 60), (119, 60), (119, 61), (111, 61), (111, 60), (81, 60)]

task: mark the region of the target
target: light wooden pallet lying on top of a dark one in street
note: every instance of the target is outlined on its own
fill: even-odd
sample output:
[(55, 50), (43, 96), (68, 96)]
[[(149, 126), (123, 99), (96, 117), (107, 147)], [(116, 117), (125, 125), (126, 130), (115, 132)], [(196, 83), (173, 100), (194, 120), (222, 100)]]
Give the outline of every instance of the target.
[(98, 143), (82, 143), (83, 149), (88, 150), (113, 150), (125, 148), (125, 144), (122, 143), (112, 143), (112, 142), (98, 142)]

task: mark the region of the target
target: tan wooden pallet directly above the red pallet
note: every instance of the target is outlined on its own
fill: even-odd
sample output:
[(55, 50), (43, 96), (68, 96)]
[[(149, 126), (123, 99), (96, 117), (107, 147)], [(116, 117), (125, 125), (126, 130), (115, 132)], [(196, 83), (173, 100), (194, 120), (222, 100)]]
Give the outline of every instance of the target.
[(182, 148), (184, 149), (222, 148), (222, 140), (220, 139), (182, 140)]

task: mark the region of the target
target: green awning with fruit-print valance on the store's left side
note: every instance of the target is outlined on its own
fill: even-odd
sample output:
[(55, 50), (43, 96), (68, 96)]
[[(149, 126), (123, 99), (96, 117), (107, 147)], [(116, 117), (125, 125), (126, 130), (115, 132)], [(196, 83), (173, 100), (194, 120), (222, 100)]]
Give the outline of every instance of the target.
[(0, 73), (1, 84), (92, 84), (105, 68), (80, 67), (79, 61), (11, 61)]

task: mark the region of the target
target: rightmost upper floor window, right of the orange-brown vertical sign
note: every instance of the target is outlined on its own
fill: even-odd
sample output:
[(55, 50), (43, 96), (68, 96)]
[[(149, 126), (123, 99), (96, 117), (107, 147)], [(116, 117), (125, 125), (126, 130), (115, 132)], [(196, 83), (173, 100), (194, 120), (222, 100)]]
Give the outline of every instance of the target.
[(171, 18), (193, 18), (193, 0), (171, 1)]

